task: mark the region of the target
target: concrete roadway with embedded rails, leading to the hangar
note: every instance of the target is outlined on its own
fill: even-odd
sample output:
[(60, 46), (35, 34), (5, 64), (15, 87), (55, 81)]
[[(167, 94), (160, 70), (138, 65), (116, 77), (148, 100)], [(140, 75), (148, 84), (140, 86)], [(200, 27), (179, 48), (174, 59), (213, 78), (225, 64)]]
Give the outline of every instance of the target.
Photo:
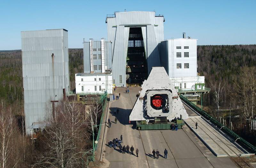
[[(125, 88), (117, 88), (114, 92), (115, 95), (120, 92), (121, 96), (109, 105), (108, 115), (112, 125), (106, 130), (103, 147), (103, 160), (109, 162), (109, 167), (236, 167), (229, 157), (215, 157), (186, 126), (178, 131), (136, 130), (129, 124), (129, 115), (139, 89), (140, 87), (131, 87), (129, 94), (125, 93)], [(119, 114), (114, 114), (117, 108)], [(114, 122), (115, 117), (118, 119), (117, 124)], [(139, 157), (120, 153), (117, 148), (114, 150), (108, 146), (109, 141), (113, 138), (120, 139), (120, 135), (123, 135), (122, 146), (133, 145), (135, 150), (138, 148)], [(159, 159), (153, 159), (153, 149), (160, 151)], [(164, 149), (168, 150), (167, 159), (164, 159)]]

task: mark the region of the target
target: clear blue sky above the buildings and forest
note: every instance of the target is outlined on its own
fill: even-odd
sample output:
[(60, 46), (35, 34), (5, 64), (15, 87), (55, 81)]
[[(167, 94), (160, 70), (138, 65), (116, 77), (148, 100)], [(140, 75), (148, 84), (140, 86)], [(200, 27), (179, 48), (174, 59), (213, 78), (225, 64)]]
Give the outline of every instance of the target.
[(0, 50), (21, 49), (21, 31), (68, 30), (68, 47), (107, 37), (107, 14), (155, 11), (164, 15), (164, 39), (186, 36), (197, 45), (256, 44), (256, 0), (0, 0)]

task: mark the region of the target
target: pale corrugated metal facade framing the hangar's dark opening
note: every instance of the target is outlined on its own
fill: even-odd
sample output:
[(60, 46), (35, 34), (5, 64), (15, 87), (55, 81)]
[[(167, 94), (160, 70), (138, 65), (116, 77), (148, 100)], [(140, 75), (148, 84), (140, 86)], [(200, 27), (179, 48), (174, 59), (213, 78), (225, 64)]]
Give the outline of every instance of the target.
[[(149, 73), (153, 66), (161, 66), (159, 47), (160, 42), (164, 40), (164, 17), (155, 17), (155, 12), (146, 11), (117, 12), (115, 15), (115, 18), (107, 18), (108, 41), (113, 42), (113, 79), (117, 86), (123, 84), (126, 86), (128, 28), (142, 27)], [(120, 75), (122, 75), (122, 83), (119, 82)]]

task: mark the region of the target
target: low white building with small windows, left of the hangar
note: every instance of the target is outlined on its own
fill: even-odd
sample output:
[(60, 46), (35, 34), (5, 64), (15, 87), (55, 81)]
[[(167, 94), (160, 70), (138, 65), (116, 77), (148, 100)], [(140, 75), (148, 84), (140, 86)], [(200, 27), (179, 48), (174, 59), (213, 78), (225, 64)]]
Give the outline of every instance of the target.
[(77, 73), (76, 94), (112, 94), (112, 74), (109, 73)]

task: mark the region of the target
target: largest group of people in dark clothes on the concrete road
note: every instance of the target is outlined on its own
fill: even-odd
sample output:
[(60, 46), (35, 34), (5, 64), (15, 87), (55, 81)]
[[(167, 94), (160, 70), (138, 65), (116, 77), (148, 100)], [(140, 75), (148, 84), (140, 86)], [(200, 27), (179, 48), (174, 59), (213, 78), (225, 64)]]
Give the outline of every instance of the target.
[[(127, 145), (125, 147), (125, 145), (122, 146), (121, 143), (123, 143), (123, 135), (120, 136), (120, 139), (118, 139), (118, 138), (115, 139), (114, 138), (112, 141), (109, 141), (108, 145), (109, 145), (110, 148), (112, 148), (112, 146), (113, 146), (114, 149), (116, 149), (116, 147), (119, 148), (119, 152), (120, 153), (124, 153), (125, 154), (125, 152), (126, 152), (126, 153), (128, 153), (130, 155), (134, 155), (133, 154), (133, 151), (134, 151), (134, 147), (133, 146), (130, 148), (130, 146)], [(135, 153), (136, 153), (136, 155), (138, 157), (138, 154), (139, 154), (138, 148), (136, 149)]]

